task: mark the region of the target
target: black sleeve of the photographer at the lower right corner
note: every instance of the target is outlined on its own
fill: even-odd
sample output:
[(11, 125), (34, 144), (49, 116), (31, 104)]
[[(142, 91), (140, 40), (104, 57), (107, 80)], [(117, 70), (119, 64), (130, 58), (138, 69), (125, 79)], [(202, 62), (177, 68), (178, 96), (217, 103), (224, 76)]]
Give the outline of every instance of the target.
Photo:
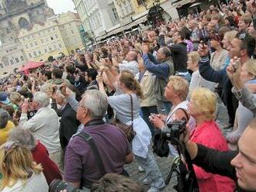
[[(192, 163), (202, 167), (206, 172), (230, 177), (231, 180), (237, 183), (236, 170), (234, 166), (231, 166), (230, 162), (237, 156), (238, 151), (220, 152), (199, 144), (197, 146), (198, 153), (195, 159), (192, 160)], [(237, 191), (246, 192), (246, 190), (242, 190), (238, 186)]]

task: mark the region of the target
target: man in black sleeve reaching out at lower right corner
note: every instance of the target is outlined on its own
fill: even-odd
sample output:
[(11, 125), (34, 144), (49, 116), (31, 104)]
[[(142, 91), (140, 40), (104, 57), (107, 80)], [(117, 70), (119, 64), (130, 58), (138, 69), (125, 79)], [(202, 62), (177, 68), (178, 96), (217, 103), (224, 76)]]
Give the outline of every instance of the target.
[(256, 190), (256, 118), (244, 130), (238, 142), (239, 151), (220, 152), (189, 141), (184, 142), (193, 163), (209, 173), (230, 177), (238, 183), (237, 191)]

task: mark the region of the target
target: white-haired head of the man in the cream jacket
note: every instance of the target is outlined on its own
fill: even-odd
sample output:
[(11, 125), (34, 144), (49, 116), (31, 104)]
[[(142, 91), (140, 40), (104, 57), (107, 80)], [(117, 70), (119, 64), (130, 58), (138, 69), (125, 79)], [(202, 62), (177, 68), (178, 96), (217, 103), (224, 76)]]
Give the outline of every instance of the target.
[(38, 110), (40, 108), (46, 108), (48, 105), (50, 105), (50, 98), (48, 94), (41, 91), (33, 94), (33, 108), (36, 108), (36, 110)]

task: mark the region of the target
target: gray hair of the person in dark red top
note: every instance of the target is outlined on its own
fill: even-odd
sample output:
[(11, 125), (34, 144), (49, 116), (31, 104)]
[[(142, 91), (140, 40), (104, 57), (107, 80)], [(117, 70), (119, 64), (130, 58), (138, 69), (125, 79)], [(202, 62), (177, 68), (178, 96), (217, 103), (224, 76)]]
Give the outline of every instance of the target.
[(8, 141), (20, 142), (23, 146), (26, 146), (29, 150), (36, 147), (36, 139), (29, 129), (22, 129), (18, 127), (12, 129), (8, 134)]

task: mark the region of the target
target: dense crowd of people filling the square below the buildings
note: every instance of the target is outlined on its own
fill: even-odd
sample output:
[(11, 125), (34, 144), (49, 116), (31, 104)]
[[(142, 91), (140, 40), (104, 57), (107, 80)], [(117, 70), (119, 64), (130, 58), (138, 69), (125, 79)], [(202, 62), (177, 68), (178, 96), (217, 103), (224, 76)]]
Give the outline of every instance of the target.
[(0, 191), (161, 191), (150, 144), (178, 120), (199, 191), (256, 191), (256, 2), (225, 3), (2, 78)]

